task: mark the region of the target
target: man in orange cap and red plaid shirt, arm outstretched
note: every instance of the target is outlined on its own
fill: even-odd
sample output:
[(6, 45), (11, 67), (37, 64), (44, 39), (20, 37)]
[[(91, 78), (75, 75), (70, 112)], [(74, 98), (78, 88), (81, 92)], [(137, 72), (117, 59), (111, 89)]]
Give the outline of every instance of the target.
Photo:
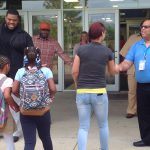
[(72, 60), (64, 54), (60, 44), (50, 37), (51, 25), (49, 22), (41, 22), (39, 25), (39, 35), (32, 37), (36, 47), (41, 49), (41, 61), (44, 66), (53, 67), (53, 58), (55, 55), (61, 57), (66, 64), (71, 65)]

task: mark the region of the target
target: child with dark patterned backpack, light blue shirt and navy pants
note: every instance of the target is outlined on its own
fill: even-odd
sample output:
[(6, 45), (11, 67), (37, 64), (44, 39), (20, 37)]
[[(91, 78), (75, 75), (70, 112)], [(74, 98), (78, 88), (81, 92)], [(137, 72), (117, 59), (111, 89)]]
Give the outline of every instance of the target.
[(44, 150), (53, 150), (50, 136), (50, 105), (56, 93), (53, 74), (49, 68), (41, 66), (40, 49), (27, 47), (24, 54), (24, 67), (17, 71), (13, 84), (13, 93), (21, 100), (24, 150), (34, 150), (36, 130)]

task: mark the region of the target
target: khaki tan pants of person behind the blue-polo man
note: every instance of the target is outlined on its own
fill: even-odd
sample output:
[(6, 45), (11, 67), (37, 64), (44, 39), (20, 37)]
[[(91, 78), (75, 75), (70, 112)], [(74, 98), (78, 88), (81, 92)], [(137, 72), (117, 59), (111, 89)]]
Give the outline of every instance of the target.
[(136, 114), (137, 100), (136, 100), (137, 83), (134, 74), (128, 74), (128, 106), (127, 114)]

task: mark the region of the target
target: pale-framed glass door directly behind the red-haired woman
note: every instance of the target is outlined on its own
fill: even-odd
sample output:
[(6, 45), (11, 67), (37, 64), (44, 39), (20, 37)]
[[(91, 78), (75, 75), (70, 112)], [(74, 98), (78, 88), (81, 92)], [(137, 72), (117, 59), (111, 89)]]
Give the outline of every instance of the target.
[[(86, 10), (86, 24), (88, 30), (89, 25), (93, 22), (100, 21), (107, 28), (107, 36), (104, 45), (109, 47), (115, 56), (115, 62), (119, 62), (119, 11), (118, 10)], [(110, 75), (106, 70), (107, 90), (119, 91), (119, 76)]]

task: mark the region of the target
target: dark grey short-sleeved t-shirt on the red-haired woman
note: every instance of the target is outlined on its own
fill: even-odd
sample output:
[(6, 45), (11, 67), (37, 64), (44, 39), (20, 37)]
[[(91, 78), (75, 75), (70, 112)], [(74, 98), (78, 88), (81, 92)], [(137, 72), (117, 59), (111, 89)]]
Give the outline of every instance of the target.
[(80, 46), (77, 55), (80, 58), (77, 88), (106, 87), (106, 66), (114, 59), (112, 51), (100, 43), (91, 42)]

